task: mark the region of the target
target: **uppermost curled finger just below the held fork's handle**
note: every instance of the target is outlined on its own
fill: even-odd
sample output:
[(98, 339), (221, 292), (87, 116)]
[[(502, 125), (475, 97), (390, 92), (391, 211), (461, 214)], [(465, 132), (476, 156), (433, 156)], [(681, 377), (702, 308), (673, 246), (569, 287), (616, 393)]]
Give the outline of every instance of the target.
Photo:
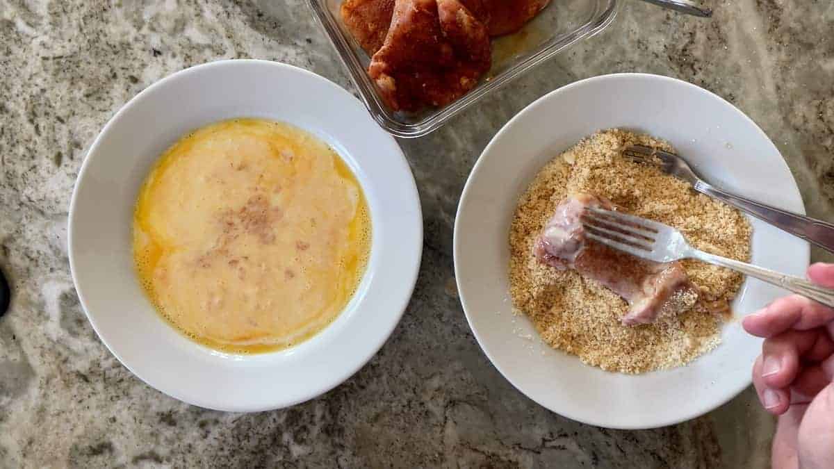
[(804, 296), (791, 295), (774, 301), (741, 320), (744, 330), (759, 337), (772, 337), (789, 329), (808, 330), (834, 320), (834, 310)]

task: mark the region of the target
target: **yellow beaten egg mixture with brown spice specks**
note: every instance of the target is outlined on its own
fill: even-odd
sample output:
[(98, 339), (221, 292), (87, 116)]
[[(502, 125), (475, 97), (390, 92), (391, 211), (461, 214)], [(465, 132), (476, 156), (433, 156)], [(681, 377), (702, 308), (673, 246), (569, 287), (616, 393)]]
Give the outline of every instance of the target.
[(328, 325), (364, 274), (354, 174), (289, 124), (234, 119), (173, 144), (139, 192), (133, 256), (163, 317), (217, 350), (280, 350)]

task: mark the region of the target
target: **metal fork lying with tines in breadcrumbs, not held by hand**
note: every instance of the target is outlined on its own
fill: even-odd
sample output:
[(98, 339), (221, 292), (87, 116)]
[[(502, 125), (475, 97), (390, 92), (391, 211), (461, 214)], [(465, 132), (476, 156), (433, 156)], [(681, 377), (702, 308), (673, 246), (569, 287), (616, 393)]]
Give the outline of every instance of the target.
[[(629, 145), (623, 150), (623, 155), (638, 163), (656, 164), (664, 172), (683, 179), (692, 184), (692, 188), (701, 194), (709, 195), (719, 199), (725, 204), (730, 204), (758, 219), (762, 219), (776, 228), (783, 229), (791, 235), (799, 236), (801, 239), (813, 243), (829, 252), (834, 252), (834, 224), (826, 223), (820, 219), (812, 219), (801, 214), (794, 214), (782, 209), (776, 209), (767, 204), (746, 199), (740, 195), (730, 194), (726, 190), (719, 189), (706, 183), (691, 169), (685, 159), (676, 154), (671, 154), (658, 149), (651, 149), (640, 145)], [(654, 159), (657, 157), (660, 161)]]

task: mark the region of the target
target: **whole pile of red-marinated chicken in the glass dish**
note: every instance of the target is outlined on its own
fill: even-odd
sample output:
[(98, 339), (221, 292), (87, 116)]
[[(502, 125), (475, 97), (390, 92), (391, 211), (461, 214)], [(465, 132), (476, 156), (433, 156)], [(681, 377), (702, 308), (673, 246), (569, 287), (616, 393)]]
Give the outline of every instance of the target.
[(344, 0), (342, 20), (394, 110), (442, 106), (490, 70), (490, 36), (514, 33), (550, 0)]

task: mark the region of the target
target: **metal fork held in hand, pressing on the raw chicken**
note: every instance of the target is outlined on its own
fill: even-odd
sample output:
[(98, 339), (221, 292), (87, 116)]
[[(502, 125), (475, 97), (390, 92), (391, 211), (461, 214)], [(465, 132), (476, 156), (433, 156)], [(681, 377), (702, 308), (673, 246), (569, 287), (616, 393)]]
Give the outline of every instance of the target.
[(766, 281), (834, 308), (834, 290), (814, 285), (793, 275), (784, 275), (756, 265), (696, 250), (677, 229), (650, 219), (589, 207), (582, 214), (585, 235), (626, 254), (654, 262), (681, 259), (703, 260)]

